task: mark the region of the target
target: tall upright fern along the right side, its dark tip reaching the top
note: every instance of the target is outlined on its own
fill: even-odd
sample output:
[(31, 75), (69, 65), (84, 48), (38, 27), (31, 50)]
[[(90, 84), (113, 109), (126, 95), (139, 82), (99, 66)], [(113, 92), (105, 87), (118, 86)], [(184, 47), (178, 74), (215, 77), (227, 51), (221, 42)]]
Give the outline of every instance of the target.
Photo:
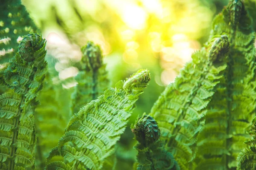
[[(227, 34), (227, 69), (207, 106), (206, 125), (199, 136), (198, 170), (230, 170), (249, 138), (255, 116), (255, 50), (252, 21), (241, 0), (231, 0), (212, 24), (211, 37)], [(211, 134), (211, 135), (209, 135)]]

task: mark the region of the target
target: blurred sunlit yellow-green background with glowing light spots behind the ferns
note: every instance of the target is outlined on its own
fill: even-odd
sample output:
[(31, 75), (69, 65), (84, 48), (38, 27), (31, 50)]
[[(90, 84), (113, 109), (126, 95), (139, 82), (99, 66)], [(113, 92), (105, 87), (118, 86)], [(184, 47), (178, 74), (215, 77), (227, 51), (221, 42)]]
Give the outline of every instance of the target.
[[(164, 87), (174, 81), (191, 54), (207, 41), (211, 21), (228, 0), (22, 0), (47, 39), (55, 84), (72, 90), (80, 48), (99, 44), (105, 55), (111, 86), (140, 68), (151, 82), (137, 102), (117, 147), (118, 164), (131, 170), (136, 159), (130, 125), (150, 113)], [(85, 103), (86, 104), (86, 103)], [(117, 165), (118, 167), (119, 165)], [(117, 168), (119, 169), (119, 168)]]

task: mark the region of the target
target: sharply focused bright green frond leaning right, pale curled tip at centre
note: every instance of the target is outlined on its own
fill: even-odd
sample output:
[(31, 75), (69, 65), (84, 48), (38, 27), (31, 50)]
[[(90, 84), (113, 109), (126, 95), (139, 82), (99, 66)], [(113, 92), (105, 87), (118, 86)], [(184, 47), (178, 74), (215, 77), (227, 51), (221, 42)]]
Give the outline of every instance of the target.
[[(140, 70), (126, 81), (117, 82), (116, 88), (108, 88), (98, 99), (74, 114), (58, 146), (49, 153), (46, 170), (53, 167), (101, 169), (150, 79), (148, 70)], [(67, 142), (72, 142), (76, 148)], [(55, 156), (63, 157), (64, 161), (51, 161)]]

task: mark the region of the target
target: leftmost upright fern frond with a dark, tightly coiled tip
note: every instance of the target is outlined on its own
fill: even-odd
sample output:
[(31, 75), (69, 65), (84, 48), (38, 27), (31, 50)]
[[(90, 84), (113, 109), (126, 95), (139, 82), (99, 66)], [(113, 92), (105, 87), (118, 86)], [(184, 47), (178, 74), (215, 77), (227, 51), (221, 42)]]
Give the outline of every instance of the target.
[(35, 169), (34, 111), (42, 88), (46, 54), (45, 40), (38, 34), (23, 37), (18, 52), (1, 71), (13, 89), (0, 96), (0, 169)]

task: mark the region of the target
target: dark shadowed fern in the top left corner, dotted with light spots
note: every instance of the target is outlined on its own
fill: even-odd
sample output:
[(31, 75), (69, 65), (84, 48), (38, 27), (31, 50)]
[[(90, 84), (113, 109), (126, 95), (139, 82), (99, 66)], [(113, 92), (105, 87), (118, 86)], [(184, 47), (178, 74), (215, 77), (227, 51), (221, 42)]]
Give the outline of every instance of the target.
[(3, 63), (17, 52), (22, 37), (37, 28), (21, 0), (1, 0), (0, 11), (0, 63)]

